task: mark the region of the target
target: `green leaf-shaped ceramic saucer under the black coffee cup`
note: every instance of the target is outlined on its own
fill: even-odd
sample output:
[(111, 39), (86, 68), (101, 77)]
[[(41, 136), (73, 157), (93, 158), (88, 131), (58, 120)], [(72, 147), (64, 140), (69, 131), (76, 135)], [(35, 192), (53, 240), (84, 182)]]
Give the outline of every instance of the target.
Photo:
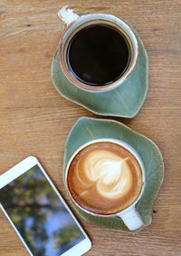
[(52, 81), (59, 94), (93, 113), (128, 118), (136, 116), (148, 93), (148, 54), (138, 34), (133, 32), (138, 40), (138, 64), (129, 79), (110, 92), (85, 92), (70, 84), (62, 73), (56, 51), (52, 60)]

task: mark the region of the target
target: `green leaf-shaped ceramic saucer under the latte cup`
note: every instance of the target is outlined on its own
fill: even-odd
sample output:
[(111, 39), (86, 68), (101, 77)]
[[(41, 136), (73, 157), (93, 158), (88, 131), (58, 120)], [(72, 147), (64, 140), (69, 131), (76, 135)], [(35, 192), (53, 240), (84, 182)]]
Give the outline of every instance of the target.
[(67, 162), (71, 155), (84, 143), (88, 143), (93, 139), (99, 138), (115, 138), (129, 143), (140, 155), (146, 170), (146, 187), (145, 191), (136, 205), (139, 214), (142, 217), (144, 226), (137, 231), (129, 231), (119, 217), (95, 217), (88, 213), (82, 212), (74, 204), (73, 207), (81, 214), (82, 217), (111, 229), (127, 232), (138, 232), (151, 223), (151, 213), (154, 201), (157, 198), (157, 193), (163, 182), (164, 163), (162, 155), (157, 148), (157, 145), (147, 137), (135, 133), (123, 123), (111, 120), (94, 119), (81, 117), (72, 127), (71, 132), (65, 143), (65, 153), (63, 162), (63, 181), (64, 172)]

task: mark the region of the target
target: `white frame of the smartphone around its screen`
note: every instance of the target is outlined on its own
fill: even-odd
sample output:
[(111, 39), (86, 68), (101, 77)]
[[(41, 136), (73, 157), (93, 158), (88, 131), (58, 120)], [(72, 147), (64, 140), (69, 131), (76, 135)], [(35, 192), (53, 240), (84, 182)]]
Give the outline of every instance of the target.
[[(24, 172), (29, 171), (36, 164), (39, 166), (39, 168), (43, 172), (43, 174), (46, 177), (46, 179), (48, 180), (48, 182), (50, 182), (50, 185), (52, 186), (53, 190), (56, 192), (58, 197), (61, 199), (63, 205), (65, 206), (67, 211), (71, 214), (71, 217), (76, 222), (77, 226), (80, 228), (81, 232), (85, 236), (85, 239), (83, 241), (80, 241), (78, 244), (76, 244), (75, 246), (71, 247), (70, 250), (65, 251), (61, 255), (62, 256), (74, 256), (74, 255), (80, 255), (81, 256), (83, 253), (85, 253), (86, 251), (90, 250), (91, 241), (90, 241), (89, 237), (87, 236), (87, 234), (85, 233), (85, 231), (83, 231), (83, 229), (81, 228), (80, 223), (76, 220), (75, 216), (72, 214), (72, 212), (69, 209), (69, 207), (67, 206), (66, 202), (64, 202), (61, 194), (57, 191), (56, 187), (53, 185), (53, 183), (50, 180), (50, 178), (47, 175), (47, 173), (43, 170), (43, 166), (41, 165), (40, 162), (38, 162), (36, 157), (29, 156), (29, 157), (25, 158), (22, 162), (19, 162), (18, 164), (16, 164), (13, 168), (8, 170), (7, 172), (5, 172), (2, 175), (0, 175), (0, 189), (5, 187), (5, 185), (7, 185), (9, 182), (13, 182), (17, 177), (22, 175)], [(21, 239), (21, 241), (23, 241), (24, 246), (27, 249), (27, 251), (30, 253), (30, 255), (33, 255), (33, 253), (28, 248), (27, 244), (25, 243), (25, 241), (24, 241), (23, 237), (21, 236), (21, 234), (15, 228), (14, 223), (11, 221), (11, 218), (8, 216), (7, 212), (5, 212), (5, 209), (4, 209), (4, 207), (3, 207), (3, 205), (1, 203), (0, 203), (0, 208), (5, 213), (5, 216), (8, 219), (8, 221), (12, 224), (12, 226), (14, 228), (14, 231), (16, 231), (16, 233), (19, 236), (19, 238)]]

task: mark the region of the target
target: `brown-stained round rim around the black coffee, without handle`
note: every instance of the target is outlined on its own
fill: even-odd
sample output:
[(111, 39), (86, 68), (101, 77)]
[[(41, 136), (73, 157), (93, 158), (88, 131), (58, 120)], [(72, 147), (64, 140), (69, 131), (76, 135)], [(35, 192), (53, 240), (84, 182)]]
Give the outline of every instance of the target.
[[(114, 81), (113, 83), (102, 85), (102, 86), (92, 86), (90, 84), (83, 84), (81, 81), (76, 79), (71, 72), (68, 71), (68, 69), (65, 67), (63, 57), (62, 57), (62, 51), (64, 48), (65, 42), (63, 42), (63, 39), (66, 37), (67, 34), (69, 36), (71, 33), (79, 27), (79, 25), (86, 24), (88, 21), (93, 20), (102, 20), (102, 21), (110, 21), (113, 26), (119, 26), (121, 30), (125, 32), (125, 34), (128, 35), (129, 40), (133, 47), (133, 60), (132, 64), (129, 66), (128, 71), (122, 74), (119, 79)], [(65, 40), (67, 41), (67, 39)], [(106, 15), (106, 14), (89, 14), (89, 15), (81, 15), (77, 20), (73, 21), (70, 25), (68, 25), (65, 30), (62, 33), (60, 44), (58, 47), (58, 58), (59, 58), (59, 64), (61, 65), (62, 72), (65, 74), (67, 79), (71, 82), (71, 84), (75, 85), (76, 87), (82, 89), (83, 91), (91, 92), (91, 93), (100, 93), (100, 92), (108, 92), (115, 88), (117, 88), (120, 84), (123, 84), (123, 82), (129, 78), (129, 75), (132, 74), (134, 71), (137, 63), (138, 63), (138, 41), (136, 38), (136, 35), (132, 32), (129, 25), (127, 25), (122, 19), (115, 15)]]

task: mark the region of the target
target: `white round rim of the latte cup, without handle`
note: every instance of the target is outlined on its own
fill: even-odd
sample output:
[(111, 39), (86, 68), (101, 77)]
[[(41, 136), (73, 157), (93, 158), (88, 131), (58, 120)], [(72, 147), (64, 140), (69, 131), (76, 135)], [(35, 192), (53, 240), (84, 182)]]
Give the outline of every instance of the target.
[[(129, 205), (129, 207), (127, 207), (126, 209), (120, 211), (120, 212), (116, 212), (116, 213), (111, 213), (111, 214), (100, 214), (100, 213), (95, 213), (95, 212), (90, 212), (87, 209), (84, 209), (78, 202), (76, 202), (73, 197), (71, 196), (71, 192), (69, 190), (68, 184), (67, 184), (67, 177), (68, 177), (68, 172), (69, 172), (69, 167), (71, 165), (72, 160), (74, 159), (74, 157), (77, 155), (77, 153), (79, 153), (83, 148), (85, 148), (86, 146), (89, 146), (90, 144), (93, 143), (116, 143), (122, 147), (124, 147), (125, 149), (127, 149), (130, 153), (132, 153), (134, 155), (134, 157), (137, 159), (138, 164), (141, 167), (141, 172), (142, 172), (142, 179), (143, 179), (143, 184), (142, 184), (142, 188), (141, 188), (141, 192), (138, 195), (138, 198), (135, 202), (133, 202), (132, 204)], [(144, 189), (145, 189), (145, 185), (146, 185), (146, 172), (145, 172), (145, 167), (144, 164), (138, 154), (138, 152), (131, 146), (129, 145), (129, 143), (126, 143), (124, 141), (120, 141), (118, 139), (111, 139), (111, 138), (101, 138), (101, 139), (95, 139), (92, 140), (88, 143), (84, 143), (81, 145), (81, 147), (79, 147), (72, 155), (70, 160), (67, 162), (66, 168), (65, 168), (65, 188), (67, 190), (67, 192), (69, 193), (70, 197), (71, 197), (71, 201), (77, 205), (83, 212), (89, 213), (90, 215), (93, 216), (97, 216), (97, 217), (114, 217), (114, 216), (119, 216), (120, 213), (125, 213), (125, 212), (129, 212), (129, 210), (131, 210), (132, 208), (134, 208), (134, 206), (137, 204), (137, 202), (139, 201), (139, 199), (141, 198)]]

